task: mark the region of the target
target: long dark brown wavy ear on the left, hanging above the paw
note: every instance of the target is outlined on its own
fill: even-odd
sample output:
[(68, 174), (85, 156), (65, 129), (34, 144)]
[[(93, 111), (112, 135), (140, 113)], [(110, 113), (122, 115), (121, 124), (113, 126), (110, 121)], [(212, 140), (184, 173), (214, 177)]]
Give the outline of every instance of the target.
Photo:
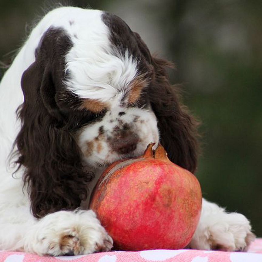
[(51, 68), (55, 57), (46, 56), (46, 49), (38, 52), (22, 76), (24, 102), (18, 114), (22, 128), (15, 143), (19, 153), (16, 163), (25, 166), (24, 183), (32, 213), (42, 217), (79, 207), (92, 174), (83, 172), (80, 150), (56, 105), (57, 80)]

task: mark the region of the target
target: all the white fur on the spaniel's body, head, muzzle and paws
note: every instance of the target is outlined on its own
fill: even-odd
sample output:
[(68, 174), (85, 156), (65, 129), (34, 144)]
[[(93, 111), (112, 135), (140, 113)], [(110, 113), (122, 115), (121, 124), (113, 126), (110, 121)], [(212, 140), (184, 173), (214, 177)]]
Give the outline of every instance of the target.
[[(159, 139), (157, 120), (149, 109), (127, 109), (125, 106), (120, 109), (121, 90), (136, 76), (137, 61), (128, 54), (128, 50), (121, 56), (109, 48), (109, 31), (101, 22), (101, 11), (62, 7), (49, 12), (33, 29), (0, 84), (0, 249), (25, 250), (39, 255), (61, 255), (70, 250), (74, 254), (88, 254), (95, 252), (98, 246), (109, 250), (112, 239), (92, 211), (59, 211), (36, 220), (30, 212), (26, 188), (24, 192), (22, 190), (23, 167), (12, 176), (16, 166), (9, 163), (9, 154), (21, 127), (15, 114), (23, 102), (21, 76), (34, 62), (34, 50), (51, 25), (65, 29), (73, 41), (74, 47), (66, 56), (66, 69), (73, 76), (72, 81), (68, 82), (68, 88), (81, 97), (102, 101), (111, 99), (112, 114), (109, 116), (109, 112), (102, 120), (105, 135), (110, 134), (118, 121), (119, 111), (124, 110), (124, 122), (132, 123), (134, 116), (138, 117), (138, 122), (132, 128), (139, 130), (139, 139), (143, 143), (140, 143), (135, 155), (141, 154), (147, 143), (158, 142)], [(110, 119), (113, 119), (112, 123)], [(79, 146), (83, 153), (85, 143), (94, 139), (93, 134), (98, 134), (100, 125), (101, 122), (81, 130)], [(87, 128), (92, 132), (87, 132)], [(120, 157), (110, 155), (106, 142), (102, 143), (104, 151), (100, 155), (94, 153), (86, 157), (87, 163), (99, 161), (101, 164), (103, 158), (105, 163)], [(246, 241), (248, 236), (251, 236), (248, 238), (250, 240), (250, 225), (244, 216), (227, 214), (217, 205), (203, 201), (201, 219), (192, 247), (210, 249), (217, 243), (225, 250), (244, 249), (250, 242)], [(59, 241), (63, 237), (68, 241), (60, 247)]]

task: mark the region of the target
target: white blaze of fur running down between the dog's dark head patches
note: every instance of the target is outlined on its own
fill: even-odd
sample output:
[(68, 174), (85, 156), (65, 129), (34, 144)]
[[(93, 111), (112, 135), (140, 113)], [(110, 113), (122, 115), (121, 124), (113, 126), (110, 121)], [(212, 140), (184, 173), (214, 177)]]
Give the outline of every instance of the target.
[(128, 50), (122, 55), (112, 48), (101, 11), (77, 9), (70, 15), (67, 32), (73, 47), (66, 55), (66, 71), (72, 77), (66, 85), (81, 98), (109, 101), (135, 78), (137, 61)]

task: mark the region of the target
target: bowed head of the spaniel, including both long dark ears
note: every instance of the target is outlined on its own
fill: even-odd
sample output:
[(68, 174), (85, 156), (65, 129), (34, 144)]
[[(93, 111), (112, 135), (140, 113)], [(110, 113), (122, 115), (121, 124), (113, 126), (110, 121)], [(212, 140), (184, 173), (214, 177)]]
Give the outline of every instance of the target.
[[(41, 40), (31, 50), (36, 32)], [(22, 76), (16, 144), (36, 216), (79, 206), (90, 180), (83, 165), (139, 156), (151, 142), (161, 142), (171, 161), (195, 171), (195, 122), (168, 82), (168, 63), (153, 58), (119, 17), (55, 9), (26, 45), (35, 62)], [(39, 190), (46, 193), (36, 197)]]

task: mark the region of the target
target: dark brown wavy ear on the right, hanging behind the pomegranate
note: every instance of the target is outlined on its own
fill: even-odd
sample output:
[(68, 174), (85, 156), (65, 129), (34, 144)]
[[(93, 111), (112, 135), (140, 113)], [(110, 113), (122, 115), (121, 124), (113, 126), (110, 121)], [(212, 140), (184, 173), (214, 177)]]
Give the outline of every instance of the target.
[(170, 86), (162, 59), (152, 59), (155, 78), (150, 87), (150, 102), (158, 119), (160, 142), (169, 159), (194, 173), (197, 168), (197, 121), (179, 102), (177, 92)]

